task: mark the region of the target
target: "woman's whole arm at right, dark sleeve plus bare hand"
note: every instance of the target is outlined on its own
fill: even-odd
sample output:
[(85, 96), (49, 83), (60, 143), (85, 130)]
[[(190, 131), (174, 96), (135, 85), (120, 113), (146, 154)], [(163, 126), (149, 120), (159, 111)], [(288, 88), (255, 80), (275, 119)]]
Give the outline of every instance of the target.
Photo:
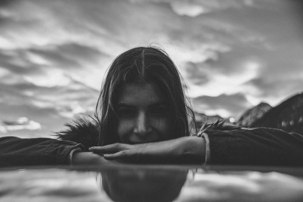
[(303, 136), (273, 128), (207, 130), (201, 137), (181, 137), (146, 144), (91, 147), (105, 159), (139, 163), (303, 166)]

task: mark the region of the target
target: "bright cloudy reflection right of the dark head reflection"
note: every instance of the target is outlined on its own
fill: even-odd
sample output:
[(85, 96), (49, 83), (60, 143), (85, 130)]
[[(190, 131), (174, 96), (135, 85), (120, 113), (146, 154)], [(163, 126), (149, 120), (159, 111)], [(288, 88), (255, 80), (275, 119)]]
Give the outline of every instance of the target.
[(278, 172), (197, 169), (177, 201), (303, 201), (303, 180)]

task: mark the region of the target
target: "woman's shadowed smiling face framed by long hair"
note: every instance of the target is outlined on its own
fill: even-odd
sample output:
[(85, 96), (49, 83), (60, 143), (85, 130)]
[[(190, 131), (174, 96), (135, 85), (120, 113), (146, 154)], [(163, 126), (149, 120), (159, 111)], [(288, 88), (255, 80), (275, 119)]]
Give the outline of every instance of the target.
[(167, 108), (152, 84), (126, 84), (119, 94), (116, 111), (121, 143), (171, 139)]

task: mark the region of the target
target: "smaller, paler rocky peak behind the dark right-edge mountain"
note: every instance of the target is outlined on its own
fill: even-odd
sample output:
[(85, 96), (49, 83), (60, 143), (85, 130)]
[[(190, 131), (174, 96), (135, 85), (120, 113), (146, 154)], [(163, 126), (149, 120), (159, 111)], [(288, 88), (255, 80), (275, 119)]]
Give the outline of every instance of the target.
[(261, 119), (266, 112), (271, 110), (272, 107), (264, 102), (261, 102), (254, 108), (247, 110), (241, 118), (239, 118), (238, 124), (244, 127), (251, 127), (258, 119)]

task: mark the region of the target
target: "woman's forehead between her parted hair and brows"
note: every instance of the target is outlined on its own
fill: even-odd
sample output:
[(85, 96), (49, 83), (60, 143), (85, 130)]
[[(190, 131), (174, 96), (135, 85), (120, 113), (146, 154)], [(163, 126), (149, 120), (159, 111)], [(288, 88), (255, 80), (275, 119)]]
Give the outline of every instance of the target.
[(119, 94), (118, 103), (129, 105), (150, 105), (162, 99), (152, 84), (126, 84)]

